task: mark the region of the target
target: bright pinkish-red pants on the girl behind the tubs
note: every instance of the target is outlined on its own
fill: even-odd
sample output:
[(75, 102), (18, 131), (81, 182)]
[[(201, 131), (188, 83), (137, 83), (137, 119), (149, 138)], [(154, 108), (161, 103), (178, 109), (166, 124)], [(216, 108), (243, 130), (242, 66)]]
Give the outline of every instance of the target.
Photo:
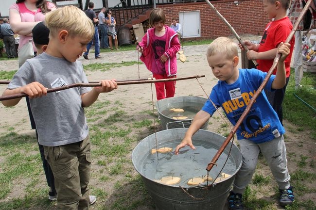
[[(168, 77), (167, 74), (153, 74), (153, 77), (157, 80), (176, 78), (175, 76)], [(161, 100), (166, 97), (174, 97), (176, 92), (176, 81), (156, 82), (156, 94), (157, 100)], [(166, 93), (165, 93), (166, 90)]]

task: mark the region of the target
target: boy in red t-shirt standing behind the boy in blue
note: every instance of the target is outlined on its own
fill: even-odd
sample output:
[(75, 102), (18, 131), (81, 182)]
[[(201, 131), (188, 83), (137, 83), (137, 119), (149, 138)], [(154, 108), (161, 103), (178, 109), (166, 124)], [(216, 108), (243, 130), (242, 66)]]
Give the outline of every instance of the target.
[[(245, 41), (246, 47), (249, 49), (247, 58), (249, 60), (257, 60), (257, 69), (268, 72), (273, 65), (276, 52), (281, 42), (285, 42), (288, 35), (293, 29), (292, 23), (287, 16), (287, 9), (289, 8), (290, 0), (263, 0), (264, 11), (267, 13), (268, 18), (272, 19), (263, 32), (260, 44), (254, 44), (250, 41)], [(273, 109), (278, 113), (279, 120), (283, 122), (282, 102), (285, 95), (287, 83), (290, 78), (290, 64), (294, 48), (293, 38), (290, 41), (290, 55), (285, 60), (286, 67), (286, 85), (274, 92), (266, 91), (266, 96)], [(242, 48), (241, 45), (239, 45)], [(273, 72), (276, 74), (276, 70)]]

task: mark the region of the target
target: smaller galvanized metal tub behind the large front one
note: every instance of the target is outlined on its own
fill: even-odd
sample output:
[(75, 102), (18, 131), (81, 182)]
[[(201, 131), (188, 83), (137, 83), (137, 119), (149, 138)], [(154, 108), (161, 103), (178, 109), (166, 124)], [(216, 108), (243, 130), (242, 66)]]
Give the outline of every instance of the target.
[[(156, 108), (159, 114), (160, 123), (163, 129), (167, 129), (167, 123), (169, 122), (182, 122), (182, 123), (172, 123), (168, 126), (168, 129), (174, 129), (174, 128), (189, 128), (193, 117), (188, 118), (185, 120), (179, 120), (179, 119), (173, 119), (169, 116), (166, 116), (163, 111), (169, 110), (172, 108), (183, 108), (185, 106), (191, 106), (196, 107), (196, 113), (202, 109), (203, 105), (207, 101), (206, 98), (203, 97), (190, 97), (190, 96), (184, 96), (184, 97), (168, 97), (161, 100), (158, 100), (156, 103)], [(209, 120), (204, 123), (204, 125), (201, 127), (201, 129), (207, 129), (209, 124)]]

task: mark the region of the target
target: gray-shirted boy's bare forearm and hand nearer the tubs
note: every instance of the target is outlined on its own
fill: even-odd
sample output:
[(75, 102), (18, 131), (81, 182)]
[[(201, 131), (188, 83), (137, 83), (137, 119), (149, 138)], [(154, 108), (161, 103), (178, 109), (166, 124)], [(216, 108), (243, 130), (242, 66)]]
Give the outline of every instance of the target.
[(82, 106), (89, 107), (94, 101), (97, 100), (100, 93), (108, 93), (114, 89), (117, 89), (117, 84), (115, 80), (102, 80), (102, 87), (94, 87), (88, 93), (81, 95)]

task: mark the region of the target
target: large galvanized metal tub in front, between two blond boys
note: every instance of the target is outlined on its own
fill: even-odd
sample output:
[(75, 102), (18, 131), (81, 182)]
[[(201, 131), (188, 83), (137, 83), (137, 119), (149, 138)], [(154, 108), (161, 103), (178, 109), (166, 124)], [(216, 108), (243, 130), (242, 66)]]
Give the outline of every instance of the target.
[[(144, 138), (134, 148), (132, 152), (132, 162), (136, 171), (143, 179), (149, 194), (152, 196), (157, 210), (223, 210), (223, 207), (228, 197), (228, 193), (235, 178), (235, 174), (240, 169), (242, 164), (242, 155), (236, 145), (232, 145), (230, 155), (236, 163), (236, 171), (229, 178), (218, 182), (211, 186), (208, 190), (206, 188), (181, 188), (174, 185), (165, 185), (158, 183), (151, 178), (147, 178), (142, 169), (143, 161), (148, 155), (148, 151), (156, 148), (156, 137), (158, 147), (170, 144), (171, 141), (180, 142), (187, 129), (168, 129), (157, 132)], [(212, 147), (219, 149), (226, 138), (207, 130), (198, 130), (193, 136), (194, 140), (203, 141)], [(224, 150), (226, 154), (229, 152), (228, 144)], [(212, 157), (210, 157), (211, 161)], [(207, 165), (205, 166), (205, 168)], [(184, 192), (184, 190), (187, 192)], [(195, 198), (189, 196), (192, 195)]]

